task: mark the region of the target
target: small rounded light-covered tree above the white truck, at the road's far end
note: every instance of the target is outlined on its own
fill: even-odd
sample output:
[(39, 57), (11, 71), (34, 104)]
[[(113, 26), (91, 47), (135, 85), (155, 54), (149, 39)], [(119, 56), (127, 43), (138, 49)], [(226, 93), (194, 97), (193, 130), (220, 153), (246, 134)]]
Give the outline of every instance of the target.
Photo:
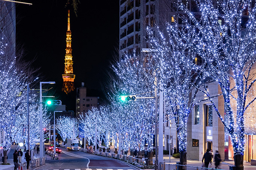
[(59, 116), (56, 119), (56, 129), (62, 140), (75, 139), (78, 136), (78, 120), (68, 116)]

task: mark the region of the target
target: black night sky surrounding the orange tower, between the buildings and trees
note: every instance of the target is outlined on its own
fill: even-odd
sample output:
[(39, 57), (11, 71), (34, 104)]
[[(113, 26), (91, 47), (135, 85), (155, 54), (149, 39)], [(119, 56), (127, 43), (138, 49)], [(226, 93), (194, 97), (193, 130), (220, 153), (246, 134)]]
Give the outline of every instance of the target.
[[(24, 59), (32, 67), (40, 68), (40, 81), (55, 81), (56, 99), (75, 110), (76, 87), (81, 82), (87, 87), (88, 96), (104, 99), (102, 84), (110, 71), (110, 62), (117, 57), (119, 43), (119, 3), (117, 1), (80, 0), (78, 17), (73, 8), (66, 8), (66, 0), (23, 0), (32, 3), (16, 5), (17, 47), (22, 48)], [(67, 10), (70, 9), (72, 32), (73, 74), (75, 92), (61, 92), (66, 49)], [(38, 83), (39, 86), (39, 83)]]

